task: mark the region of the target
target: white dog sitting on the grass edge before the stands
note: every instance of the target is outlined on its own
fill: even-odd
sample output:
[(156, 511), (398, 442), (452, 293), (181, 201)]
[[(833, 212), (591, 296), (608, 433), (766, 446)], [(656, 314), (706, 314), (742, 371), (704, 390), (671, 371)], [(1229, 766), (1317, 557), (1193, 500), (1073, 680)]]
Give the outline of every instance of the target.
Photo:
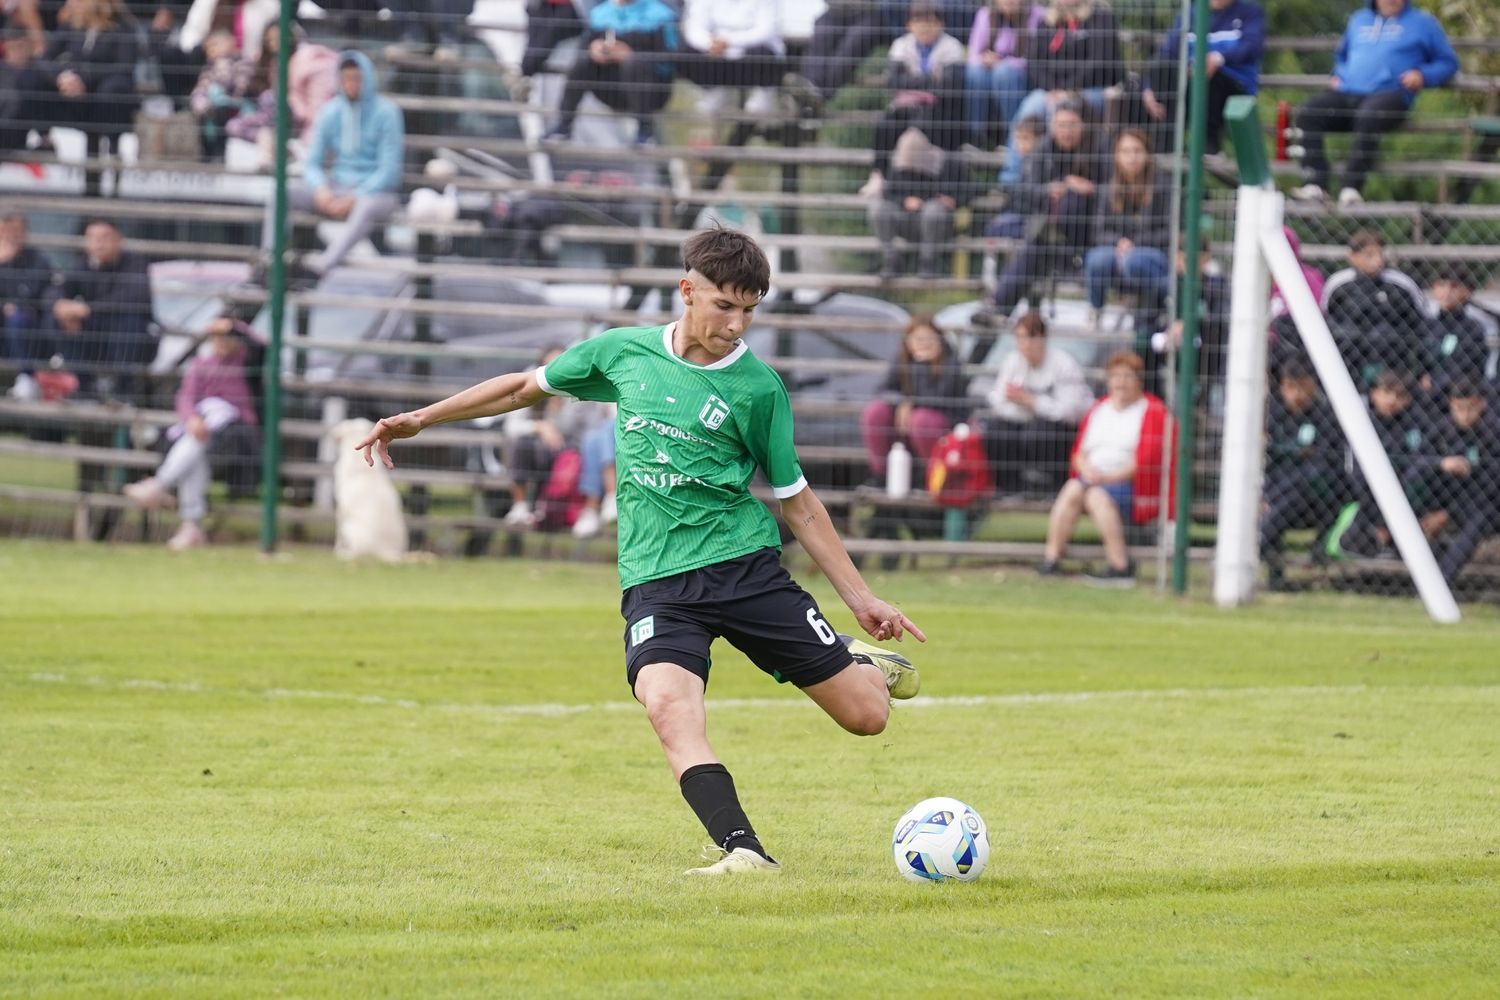
[(333, 553), (340, 559), (374, 558), (400, 562), (406, 555), (406, 520), (400, 495), (380, 460), (364, 463), (354, 445), (372, 429), (369, 420), (340, 420), (330, 436), (338, 448), (333, 459), (333, 505), (338, 537)]

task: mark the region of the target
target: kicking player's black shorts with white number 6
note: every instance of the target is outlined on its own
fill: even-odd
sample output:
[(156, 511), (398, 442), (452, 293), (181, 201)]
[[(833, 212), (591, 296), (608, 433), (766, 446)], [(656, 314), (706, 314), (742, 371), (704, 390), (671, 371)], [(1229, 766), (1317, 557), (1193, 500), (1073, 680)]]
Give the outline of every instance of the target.
[(675, 663), (708, 684), (718, 637), (780, 682), (819, 684), (849, 666), (849, 651), (818, 601), (782, 568), (776, 549), (638, 583), (620, 598), (630, 690), (648, 663)]

